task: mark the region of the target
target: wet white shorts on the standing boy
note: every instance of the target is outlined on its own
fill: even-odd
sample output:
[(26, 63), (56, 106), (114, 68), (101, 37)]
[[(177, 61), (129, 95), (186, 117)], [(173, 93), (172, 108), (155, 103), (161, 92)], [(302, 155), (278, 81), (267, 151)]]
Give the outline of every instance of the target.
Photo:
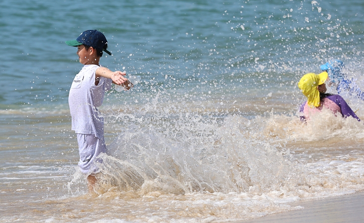
[(82, 173), (94, 174), (100, 172), (94, 162), (102, 163), (102, 159), (97, 158), (97, 156), (102, 152), (106, 152), (104, 139), (97, 138), (94, 134), (76, 134), (80, 154), (78, 166), (81, 168)]

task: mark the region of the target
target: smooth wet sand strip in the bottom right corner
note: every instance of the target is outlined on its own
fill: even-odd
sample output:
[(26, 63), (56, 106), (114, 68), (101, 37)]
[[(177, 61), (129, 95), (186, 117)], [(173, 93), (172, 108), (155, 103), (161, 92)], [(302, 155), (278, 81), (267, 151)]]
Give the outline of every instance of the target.
[(291, 204), (304, 209), (268, 215), (234, 223), (363, 223), (364, 192), (351, 195), (305, 200)]

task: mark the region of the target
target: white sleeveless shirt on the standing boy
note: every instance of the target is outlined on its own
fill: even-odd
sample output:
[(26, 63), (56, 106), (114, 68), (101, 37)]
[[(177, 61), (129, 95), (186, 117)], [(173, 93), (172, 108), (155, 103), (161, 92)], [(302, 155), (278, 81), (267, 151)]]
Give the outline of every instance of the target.
[(104, 117), (97, 110), (102, 105), (105, 91), (112, 86), (112, 80), (100, 77), (95, 86), (97, 65), (85, 65), (74, 78), (68, 96), (72, 116), (72, 130), (81, 134), (95, 134), (104, 138)]

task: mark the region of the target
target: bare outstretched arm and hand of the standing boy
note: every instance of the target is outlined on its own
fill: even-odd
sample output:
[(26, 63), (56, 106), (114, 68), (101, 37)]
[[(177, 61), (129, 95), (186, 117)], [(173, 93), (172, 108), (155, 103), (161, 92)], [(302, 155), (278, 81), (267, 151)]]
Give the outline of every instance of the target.
[[(111, 70), (107, 69), (106, 67), (99, 67), (96, 70), (96, 80), (95, 85), (98, 84), (98, 78), (104, 77), (113, 80), (113, 83), (116, 85), (121, 85), (125, 88), (125, 90), (129, 90), (133, 87), (133, 84), (124, 77), (126, 74), (121, 71), (112, 72)], [(97, 84), (96, 84), (97, 83)]]

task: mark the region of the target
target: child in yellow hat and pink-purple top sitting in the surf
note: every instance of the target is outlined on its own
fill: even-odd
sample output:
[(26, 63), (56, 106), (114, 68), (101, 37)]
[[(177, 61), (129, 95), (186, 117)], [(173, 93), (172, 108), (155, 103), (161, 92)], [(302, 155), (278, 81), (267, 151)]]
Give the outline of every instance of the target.
[(325, 81), (327, 79), (327, 72), (321, 74), (308, 73), (298, 82), (298, 87), (307, 98), (307, 102), (301, 105), (300, 112), (304, 113), (301, 120), (306, 121), (306, 119), (309, 119), (309, 114), (321, 112), (322, 108), (325, 107), (334, 114), (340, 112), (343, 117), (352, 116), (360, 121), (360, 118), (340, 95), (325, 94), (327, 91)]

